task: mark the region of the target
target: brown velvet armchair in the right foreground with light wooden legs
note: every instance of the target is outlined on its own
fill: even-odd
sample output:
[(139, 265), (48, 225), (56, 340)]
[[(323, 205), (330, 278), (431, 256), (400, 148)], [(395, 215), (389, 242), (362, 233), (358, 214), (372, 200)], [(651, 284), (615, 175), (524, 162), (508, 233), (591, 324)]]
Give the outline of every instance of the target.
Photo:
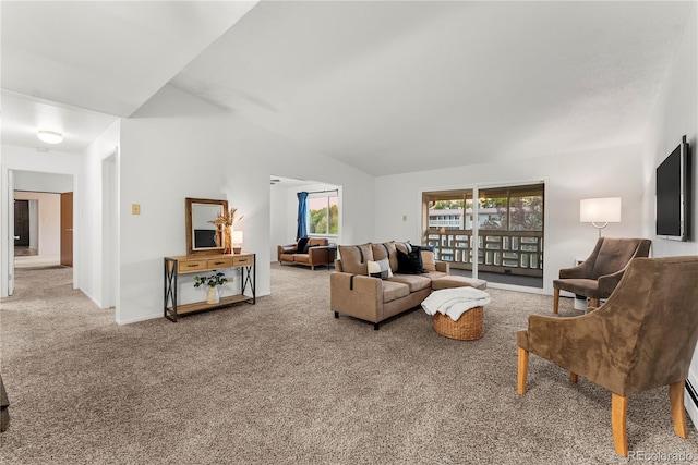
[(627, 456), (630, 394), (669, 384), (674, 431), (687, 438), (684, 387), (698, 340), (698, 257), (636, 258), (611, 297), (576, 318), (530, 315), (516, 334), (518, 393), (529, 352), (611, 391), (615, 451)]

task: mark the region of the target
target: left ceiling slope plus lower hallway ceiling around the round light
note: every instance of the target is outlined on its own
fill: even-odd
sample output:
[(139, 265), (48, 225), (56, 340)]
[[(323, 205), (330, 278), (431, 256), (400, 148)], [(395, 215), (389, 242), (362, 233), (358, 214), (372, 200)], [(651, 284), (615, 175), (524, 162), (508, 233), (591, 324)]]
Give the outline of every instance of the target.
[[(82, 152), (256, 1), (7, 1), (2, 144)], [(39, 129), (64, 135), (40, 143)]]

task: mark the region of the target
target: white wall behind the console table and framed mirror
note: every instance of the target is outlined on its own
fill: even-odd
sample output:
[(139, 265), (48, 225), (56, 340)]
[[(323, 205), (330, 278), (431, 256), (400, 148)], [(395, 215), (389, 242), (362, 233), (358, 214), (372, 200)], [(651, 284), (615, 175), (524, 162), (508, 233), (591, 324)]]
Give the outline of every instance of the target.
[[(348, 241), (373, 235), (373, 179), (299, 143), (166, 86), (122, 121), (119, 322), (163, 316), (163, 257), (183, 255), (184, 198), (221, 198), (244, 215), (257, 296), (270, 292), (272, 174), (342, 185)], [(131, 215), (131, 204), (141, 215)]]

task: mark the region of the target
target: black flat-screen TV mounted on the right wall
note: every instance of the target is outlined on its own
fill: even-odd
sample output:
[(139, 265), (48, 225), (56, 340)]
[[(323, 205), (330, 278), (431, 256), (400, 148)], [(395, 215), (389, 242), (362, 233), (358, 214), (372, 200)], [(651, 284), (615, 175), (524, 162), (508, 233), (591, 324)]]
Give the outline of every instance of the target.
[(686, 136), (657, 167), (657, 235), (673, 241), (690, 238), (691, 160)]

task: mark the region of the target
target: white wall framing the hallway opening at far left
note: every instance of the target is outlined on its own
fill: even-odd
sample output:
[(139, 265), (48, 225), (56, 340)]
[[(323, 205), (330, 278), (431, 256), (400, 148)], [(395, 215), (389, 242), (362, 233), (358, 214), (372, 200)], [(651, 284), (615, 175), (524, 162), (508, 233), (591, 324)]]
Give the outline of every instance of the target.
[[(76, 154), (67, 154), (56, 150), (50, 150), (47, 152), (39, 152), (34, 148), (27, 147), (15, 147), (3, 145), (0, 147), (2, 151), (2, 158), (0, 161), (0, 209), (2, 211), (8, 211), (9, 205), (8, 199), (9, 195), (5, 186), (9, 183), (9, 171), (37, 171), (43, 173), (58, 173), (58, 174), (70, 174), (73, 176), (73, 193), (74, 199), (73, 204), (76, 205), (76, 198), (80, 198), (82, 195), (82, 185), (79, 175), (82, 170), (81, 166), (81, 157)], [(9, 228), (8, 228), (8, 216), (2, 215), (0, 218), (0, 237), (9, 236)], [(80, 237), (81, 231), (76, 229), (73, 235), (73, 247), (74, 257), (73, 260), (76, 261), (80, 258)], [(8, 259), (8, 249), (9, 243), (8, 241), (1, 241), (0, 244), (0, 296), (5, 297), (8, 295), (8, 276), (10, 273), (9, 269), (9, 259)], [(80, 286), (80, 277), (77, 276), (77, 269), (80, 264), (75, 264), (73, 268), (73, 286)]]

